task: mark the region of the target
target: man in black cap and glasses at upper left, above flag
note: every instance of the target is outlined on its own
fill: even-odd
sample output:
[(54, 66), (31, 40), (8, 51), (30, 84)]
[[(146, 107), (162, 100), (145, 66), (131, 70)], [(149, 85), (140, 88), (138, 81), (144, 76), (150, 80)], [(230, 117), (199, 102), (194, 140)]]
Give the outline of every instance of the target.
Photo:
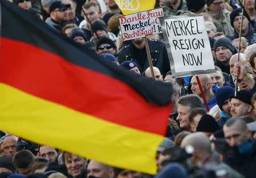
[(61, 1), (51, 3), (51, 6), (49, 7), (50, 17), (46, 19), (46, 23), (61, 32), (61, 26), (65, 22), (64, 15), (67, 13), (69, 7), (71, 7), (69, 4), (65, 5)]

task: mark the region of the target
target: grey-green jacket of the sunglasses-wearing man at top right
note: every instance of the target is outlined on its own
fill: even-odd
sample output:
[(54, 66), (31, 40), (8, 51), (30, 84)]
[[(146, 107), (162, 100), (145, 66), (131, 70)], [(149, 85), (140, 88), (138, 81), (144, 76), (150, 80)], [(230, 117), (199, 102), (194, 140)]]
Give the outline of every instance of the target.
[(207, 9), (207, 13), (210, 14), (214, 20), (221, 23), (225, 35), (234, 35), (234, 28), (231, 26), (229, 18), (230, 12), (228, 10), (224, 9), (221, 12), (211, 12)]

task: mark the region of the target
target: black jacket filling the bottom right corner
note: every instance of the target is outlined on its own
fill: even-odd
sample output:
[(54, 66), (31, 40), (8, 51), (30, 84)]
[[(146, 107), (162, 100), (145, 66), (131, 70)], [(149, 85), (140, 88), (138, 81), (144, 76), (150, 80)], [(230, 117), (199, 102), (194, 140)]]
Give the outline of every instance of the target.
[(256, 142), (254, 139), (251, 139), (251, 141), (253, 142), (253, 148), (249, 152), (241, 154), (237, 146), (232, 147), (224, 160), (226, 164), (248, 178), (256, 177)]

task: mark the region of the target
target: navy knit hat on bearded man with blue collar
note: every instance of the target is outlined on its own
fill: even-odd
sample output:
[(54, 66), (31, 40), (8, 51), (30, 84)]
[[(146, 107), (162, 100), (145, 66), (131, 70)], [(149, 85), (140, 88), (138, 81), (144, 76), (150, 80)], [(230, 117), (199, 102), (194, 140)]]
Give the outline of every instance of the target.
[(230, 86), (224, 86), (224, 87), (218, 88), (215, 98), (217, 100), (218, 107), (221, 109), (221, 111), (223, 111), (222, 105), (224, 101), (229, 99), (229, 96), (232, 94), (234, 94), (234, 88)]

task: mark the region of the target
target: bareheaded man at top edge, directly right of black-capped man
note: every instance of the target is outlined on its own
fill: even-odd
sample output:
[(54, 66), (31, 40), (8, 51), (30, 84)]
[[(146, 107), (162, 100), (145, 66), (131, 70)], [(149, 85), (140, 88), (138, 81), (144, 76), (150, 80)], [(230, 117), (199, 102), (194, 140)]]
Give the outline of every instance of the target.
[(65, 5), (70, 5), (70, 7), (67, 8), (67, 12), (64, 14), (65, 22), (74, 22), (79, 25), (81, 19), (76, 16), (76, 2), (71, 0), (62, 0), (62, 2)]

